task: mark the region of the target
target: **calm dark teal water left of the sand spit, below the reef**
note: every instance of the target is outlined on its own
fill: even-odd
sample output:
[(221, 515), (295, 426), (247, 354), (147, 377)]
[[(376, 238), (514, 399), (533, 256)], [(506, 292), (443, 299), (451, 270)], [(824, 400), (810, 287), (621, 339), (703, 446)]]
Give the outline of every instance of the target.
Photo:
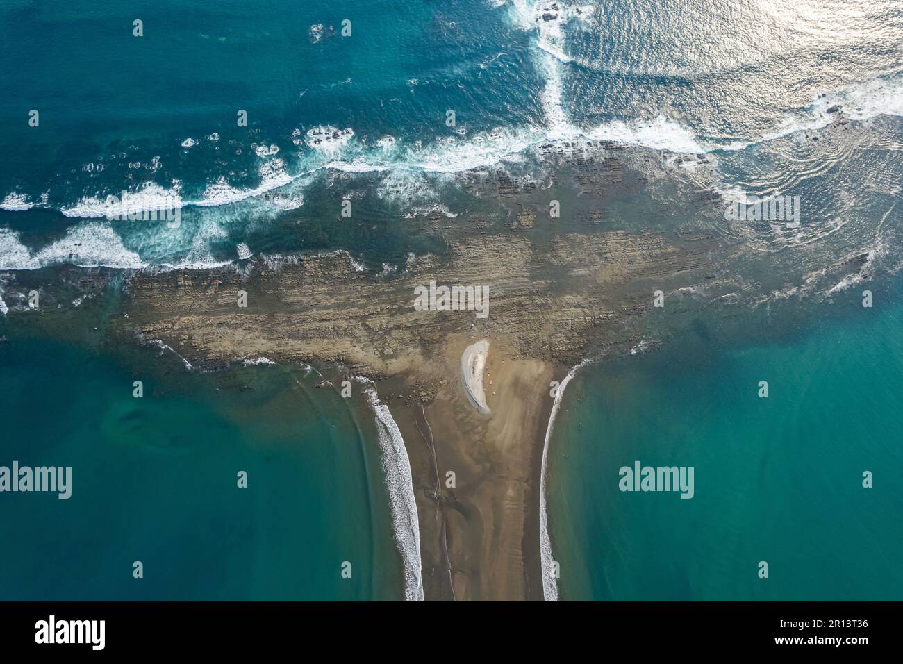
[[(0, 344), (9, 415), (0, 463), (72, 469), (67, 500), (4, 493), (0, 597), (401, 596), (366, 410), (325, 396), (300, 369), (199, 375), (172, 355), (144, 355), (126, 362), (58, 341)], [(132, 395), (135, 379), (144, 379), (142, 398)], [(237, 486), (239, 471), (247, 488)], [(350, 578), (341, 576), (346, 561)]]

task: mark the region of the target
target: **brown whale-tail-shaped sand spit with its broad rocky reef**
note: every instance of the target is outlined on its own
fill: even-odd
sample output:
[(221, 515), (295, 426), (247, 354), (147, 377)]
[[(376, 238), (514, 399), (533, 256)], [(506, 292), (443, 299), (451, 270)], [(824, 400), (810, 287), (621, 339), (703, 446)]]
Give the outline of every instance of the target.
[[(99, 327), (104, 343), (159, 341), (198, 370), (265, 357), (339, 364), (375, 380), (377, 444), (397, 462), (386, 478), (403, 497), (393, 524), (404, 534), (405, 595), (551, 599), (543, 575), (551, 547), (540, 519), (550, 382), (600, 351), (627, 353), (643, 338), (657, 289), (706, 283), (720, 272), (716, 250), (733, 256), (722, 235), (678, 234), (655, 219), (618, 228), (603, 209), (606, 193), (645, 181), (616, 157), (582, 166), (573, 182), (587, 195), (571, 201), (568, 220), (544, 221), (545, 203), (509, 178), (485, 187), (512, 209), (510, 218), (405, 220), (410, 237), (442, 251), (410, 257), (391, 276), (358, 270), (346, 252), (258, 255), (242, 270), (138, 270), (124, 280), (106, 268), (53, 267), (5, 276), (5, 301), (41, 289), (42, 315), (10, 307), (0, 323), (14, 319), (66, 339), (73, 329), (98, 331), (92, 316), (121, 283), (121, 315)], [(491, 314), (417, 311), (415, 289), (431, 280), (488, 285)], [(85, 304), (70, 305), (82, 296)], [(86, 342), (98, 343), (92, 334)]]

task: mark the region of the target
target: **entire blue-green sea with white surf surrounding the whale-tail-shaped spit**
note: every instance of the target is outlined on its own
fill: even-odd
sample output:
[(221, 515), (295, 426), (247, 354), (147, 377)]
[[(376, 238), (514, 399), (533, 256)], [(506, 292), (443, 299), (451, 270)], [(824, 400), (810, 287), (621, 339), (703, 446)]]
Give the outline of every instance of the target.
[[(747, 250), (650, 321), (660, 347), (568, 388), (549, 461), (562, 596), (898, 598), (901, 34), (894, 0), (0, 3), (0, 463), (65, 462), (76, 482), (68, 501), (5, 494), (0, 535), (18, 544), (0, 552), (0, 597), (402, 585), (363, 401), (303, 368), (203, 374), (86, 343), (90, 327), (32, 337), (6, 315), (25, 307), (17, 274), (208, 267), (237, 243), (403, 268), (442, 253), (406, 220), (503, 224), (474, 193), (500, 176), (582, 201), (548, 154), (611, 141), (647, 184), (606, 202), (607, 229)], [(700, 192), (798, 195), (802, 223), (726, 224)], [(157, 210), (181, 223), (116, 218)], [(714, 298), (731, 289), (745, 304), (726, 315)], [(694, 465), (694, 499), (617, 491), (636, 459)]]

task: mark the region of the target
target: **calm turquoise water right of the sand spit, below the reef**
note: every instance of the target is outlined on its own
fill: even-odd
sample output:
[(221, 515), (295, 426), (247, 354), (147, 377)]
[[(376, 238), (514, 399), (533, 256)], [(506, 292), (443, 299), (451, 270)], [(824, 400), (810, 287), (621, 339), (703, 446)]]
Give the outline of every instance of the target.
[[(658, 351), (581, 369), (549, 462), (563, 599), (903, 596), (903, 284), (869, 287), (871, 309), (762, 310), (740, 338), (694, 318)], [(694, 497), (620, 491), (636, 461), (693, 466)]]

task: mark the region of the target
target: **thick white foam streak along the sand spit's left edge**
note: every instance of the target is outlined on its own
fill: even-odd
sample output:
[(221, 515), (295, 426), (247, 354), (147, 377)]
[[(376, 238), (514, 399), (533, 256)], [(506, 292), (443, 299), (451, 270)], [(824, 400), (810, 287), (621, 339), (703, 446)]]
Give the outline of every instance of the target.
[(424, 580), (420, 562), (420, 525), (417, 522), (414, 480), (405, 441), (389, 408), (379, 400), (373, 381), (359, 377), (355, 379), (367, 385), (364, 393), (377, 417), (377, 437), (383, 456), (389, 500), (392, 501), (392, 528), (405, 566), (405, 601), (422, 602)]

